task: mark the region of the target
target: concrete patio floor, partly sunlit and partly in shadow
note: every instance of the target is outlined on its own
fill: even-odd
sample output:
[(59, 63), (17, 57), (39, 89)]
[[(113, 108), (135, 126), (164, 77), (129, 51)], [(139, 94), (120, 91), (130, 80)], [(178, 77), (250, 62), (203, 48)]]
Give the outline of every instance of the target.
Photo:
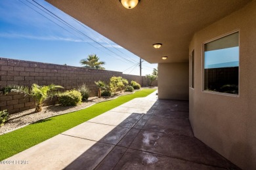
[(137, 98), (8, 158), (0, 169), (239, 169), (193, 135), (188, 101)]

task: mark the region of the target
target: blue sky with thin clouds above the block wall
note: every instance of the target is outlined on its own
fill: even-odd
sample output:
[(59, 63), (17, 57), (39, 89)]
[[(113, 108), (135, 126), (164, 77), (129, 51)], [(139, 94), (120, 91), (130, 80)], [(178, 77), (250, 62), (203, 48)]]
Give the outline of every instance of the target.
[[(139, 75), (138, 56), (86, 25), (79, 24), (49, 3), (43, 0), (35, 1), (72, 25), (78, 32), (43, 12), (46, 10), (41, 10), (42, 8), (32, 0), (1, 0), (1, 58), (81, 66), (80, 59), (87, 58), (89, 54), (96, 54), (101, 61), (106, 62), (104, 67), (107, 70), (121, 72), (127, 70), (125, 74)], [(157, 64), (143, 61), (142, 75), (151, 74), (156, 67)]]

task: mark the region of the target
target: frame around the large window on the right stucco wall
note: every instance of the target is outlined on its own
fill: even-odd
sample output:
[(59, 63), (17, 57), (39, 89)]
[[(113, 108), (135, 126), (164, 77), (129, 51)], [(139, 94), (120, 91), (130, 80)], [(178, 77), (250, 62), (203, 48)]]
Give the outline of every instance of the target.
[[(204, 68), (204, 65), (205, 65), (205, 44), (209, 43), (209, 42), (212, 42), (212, 41), (215, 41), (217, 39), (221, 39), (223, 37), (226, 37), (228, 35), (231, 35), (233, 33), (238, 33), (238, 47), (239, 47), (239, 67), (238, 67), (238, 94), (232, 94), (232, 93), (222, 93), (222, 92), (213, 92), (213, 91), (209, 91), (209, 90), (204, 90), (205, 89), (205, 86), (204, 86), (204, 78), (205, 78), (205, 68)], [(226, 95), (226, 96), (231, 96), (231, 97), (240, 97), (240, 29), (236, 29), (234, 31), (230, 31), (228, 33), (225, 33), (223, 35), (220, 35), (218, 37), (215, 37), (213, 39), (210, 39), (208, 41), (205, 41), (202, 43), (202, 92), (203, 93), (211, 93), (211, 94), (217, 94), (217, 95)]]

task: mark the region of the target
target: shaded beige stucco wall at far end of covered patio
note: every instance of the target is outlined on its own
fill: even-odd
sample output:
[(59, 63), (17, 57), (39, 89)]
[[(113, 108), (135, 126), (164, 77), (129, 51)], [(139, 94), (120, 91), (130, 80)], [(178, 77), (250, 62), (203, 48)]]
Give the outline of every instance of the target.
[(188, 100), (188, 63), (158, 64), (158, 98)]

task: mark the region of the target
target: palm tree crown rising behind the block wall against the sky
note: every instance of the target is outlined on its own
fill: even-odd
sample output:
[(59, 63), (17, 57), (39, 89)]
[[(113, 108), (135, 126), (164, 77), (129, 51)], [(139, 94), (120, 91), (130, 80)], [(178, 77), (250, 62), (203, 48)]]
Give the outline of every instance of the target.
[(91, 69), (102, 69), (105, 68), (102, 67), (102, 65), (105, 64), (104, 61), (98, 61), (100, 58), (96, 56), (96, 54), (91, 54), (88, 56), (87, 59), (81, 59), (80, 63), (81, 65), (85, 65), (84, 67), (91, 68)]

